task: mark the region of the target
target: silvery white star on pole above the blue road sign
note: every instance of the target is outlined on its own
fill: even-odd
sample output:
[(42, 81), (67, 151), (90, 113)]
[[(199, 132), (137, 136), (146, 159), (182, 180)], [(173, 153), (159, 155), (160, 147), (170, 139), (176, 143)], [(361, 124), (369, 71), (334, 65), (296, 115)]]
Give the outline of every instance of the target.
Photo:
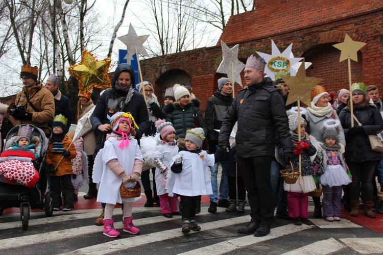
[(149, 54), (147, 53), (145, 47), (143, 47), (142, 45), (148, 39), (148, 37), (149, 35), (137, 36), (132, 24), (129, 24), (128, 34), (118, 37), (118, 39), (125, 43), (127, 47), (128, 54), (126, 55), (125, 59), (128, 60), (128, 62), (129, 60), (133, 60), (133, 55), (136, 54), (136, 50), (134, 47), (137, 47), (137, 52), (139, 54), (149, 57)]

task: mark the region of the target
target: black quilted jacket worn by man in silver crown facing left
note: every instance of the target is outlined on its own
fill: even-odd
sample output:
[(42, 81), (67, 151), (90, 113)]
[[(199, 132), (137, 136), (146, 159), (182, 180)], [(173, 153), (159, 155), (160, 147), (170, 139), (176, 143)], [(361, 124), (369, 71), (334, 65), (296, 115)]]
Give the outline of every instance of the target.
[(283, 98), (270, 78), (238, 92), (221, 126), (219, 145), (229, 146), (238, 121), (236, 155), (241, 158), (275, 156), (275, 132), (285, 152), (294, 152)]

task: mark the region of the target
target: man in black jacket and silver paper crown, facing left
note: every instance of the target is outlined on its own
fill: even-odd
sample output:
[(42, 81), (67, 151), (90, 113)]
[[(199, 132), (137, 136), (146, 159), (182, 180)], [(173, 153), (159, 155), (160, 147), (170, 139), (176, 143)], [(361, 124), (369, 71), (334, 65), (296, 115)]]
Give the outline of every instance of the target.
[(270, 233), (273, 221), (273, 190), (270, 182), (271, 161), (275, 155), (275, 134), (286, 151), (285, 160), (294, 157), (288, 117), (283, 98), (270, 78), (264, 78), (266, 62), (250, 56), (246, 62), (248, 88), (238, 92), (221, 126), (219, 145), (229, 151), (229, 137), (238, 121), (235, 137), (238, 167), (241, 168), (251, 208), (251, 221), (240, 233), (261, 237)]

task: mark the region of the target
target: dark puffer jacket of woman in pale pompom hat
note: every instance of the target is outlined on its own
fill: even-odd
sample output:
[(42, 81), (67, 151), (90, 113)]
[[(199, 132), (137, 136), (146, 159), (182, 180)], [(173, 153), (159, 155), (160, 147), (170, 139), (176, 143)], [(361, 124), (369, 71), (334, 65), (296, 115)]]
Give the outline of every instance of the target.
[(197, 115), (199, 127), (203, 129), (206, 136), (207, 126), (199, 107), (200, 101), (198, 99), (193, 99), (184, 108), (181, 108), (178, 104), (169, 104), (164, 107), (166, 120), (171, 122), (176, 130), (176, 140), (178, 138), (185, 138), (186, 130), (195, 129), (194, 114)]

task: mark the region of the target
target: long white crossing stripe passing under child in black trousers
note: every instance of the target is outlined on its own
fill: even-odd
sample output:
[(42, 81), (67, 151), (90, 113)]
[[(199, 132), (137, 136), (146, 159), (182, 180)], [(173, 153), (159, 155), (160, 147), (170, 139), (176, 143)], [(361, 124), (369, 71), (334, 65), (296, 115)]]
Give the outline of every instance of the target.
[[(241, 217), (235, 217), (230, 219), (203, 223), (203, 224), (200, 224), (200, 226), (202, 228), (201, 231), (208, 231), (215, 228), (220, 228), (220, 227), (225, 227), (225, 226), (230, 226), (235, 224), (243, 224), (245, 222), (249, 222), (249, 220), (250, 220), (249, 215), (245, 215)], [(188, 235), (193, 235), (193, 234), (195, 233), (189, 233)], [(156, 232), (156, 233), (151, 233), (147, 235), (139, 235), (139, 236), (134, 236), (134, 237), (125, 238), (125, 239), (117, 239), (107, 243), (102, 243), (102, 244), (74, 250), (65, 254), (107, 254), (107, 253), (115, 252), (115, 251), (121, 252), (123, 249), (128, 249), (128, 248), (136, 247), (143, 244), (163, 241), (166, 239), (176, 238), (182, 235), (183, 234), (181, 233), (181, 228), (176, 228), (174, 230)]]

